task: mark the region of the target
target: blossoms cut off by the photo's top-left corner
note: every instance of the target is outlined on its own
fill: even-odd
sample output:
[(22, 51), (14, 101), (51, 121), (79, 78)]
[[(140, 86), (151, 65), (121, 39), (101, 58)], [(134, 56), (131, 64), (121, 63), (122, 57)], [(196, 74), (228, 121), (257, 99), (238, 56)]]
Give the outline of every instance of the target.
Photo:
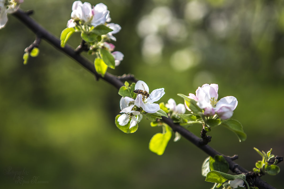
[(0, 0), (0, 29), (8, 21), (7, 13), (15, 12), (24, 0)]

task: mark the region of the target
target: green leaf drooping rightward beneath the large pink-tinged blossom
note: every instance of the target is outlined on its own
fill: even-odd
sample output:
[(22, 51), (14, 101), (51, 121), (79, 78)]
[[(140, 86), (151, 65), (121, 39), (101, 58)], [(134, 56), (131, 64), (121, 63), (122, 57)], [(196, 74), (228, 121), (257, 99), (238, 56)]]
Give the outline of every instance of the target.
[(242, 124), (237, 120), (234, 119), (224, 120), (222, 121), (221, 125), (235, 132), (240, 142), (245, 141), (247, 139), (247, 135), (243, 130)]

